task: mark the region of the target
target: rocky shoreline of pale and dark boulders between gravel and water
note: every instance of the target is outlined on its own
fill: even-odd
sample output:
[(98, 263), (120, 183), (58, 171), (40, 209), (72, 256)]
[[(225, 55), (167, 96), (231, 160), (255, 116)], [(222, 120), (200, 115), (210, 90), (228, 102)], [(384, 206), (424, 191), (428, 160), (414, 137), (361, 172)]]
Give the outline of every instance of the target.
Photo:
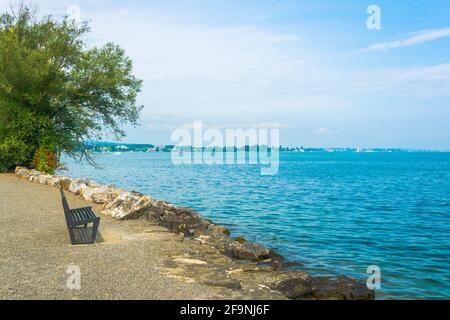
[(267, 291), (299, 300), (375, 298), (375, 292), (367, 288), (365, 281), (346, 276), (314, 277), (305, 271), (285, 271), (285, 261), (275, 251), (242, 237), (233, 238), (226, 227), (214, 224), (192, 209), (113, 185), (100, 185), (87, 178), (52, 176), (23, 167), (17, 167), (15, 174), (31, 182), (61, 187), (86, 201), (99, 204), (103, 207), (102, 214), (116, 220), (147, 220), (180, 234), (182, 241), (200, 243), (205, 248), (219, 251), (224, 259), (216, 255), (213, 269), (206, 269), (203, 261), (190, 260), (197, 261), (194, 263), (196, 268), (183, 271), (185, 274), (195, 273), (193, 277), (202, 283), (230, 290), (263, 286)]

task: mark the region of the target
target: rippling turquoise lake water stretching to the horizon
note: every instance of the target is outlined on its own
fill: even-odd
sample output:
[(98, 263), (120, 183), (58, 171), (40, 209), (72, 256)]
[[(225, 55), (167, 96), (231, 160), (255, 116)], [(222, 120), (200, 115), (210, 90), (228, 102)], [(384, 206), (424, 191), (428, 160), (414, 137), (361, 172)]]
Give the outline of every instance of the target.
[(317, 274), (366, 278), (378, 298), (450, 298), (450, 153), (281, 153), (254, 165), (174, 166), (168, 153), (98, 154), (87, 176), (189, 206)]

